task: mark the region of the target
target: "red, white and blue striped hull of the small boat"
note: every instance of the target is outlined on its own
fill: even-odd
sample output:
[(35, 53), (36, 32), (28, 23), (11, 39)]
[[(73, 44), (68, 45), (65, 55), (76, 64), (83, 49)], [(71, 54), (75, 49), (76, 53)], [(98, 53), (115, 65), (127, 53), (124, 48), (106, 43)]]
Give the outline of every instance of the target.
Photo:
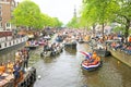
[(95, 70), (97, 70), (98, 67), (100, 67), (102, 66), (102, 61), (99, 61), (98, 63), (96, 63), (96, 64), (91, 64), (91, 65), (86, 65), (86, 64), (84, 64), (84, 62), (85, 62), (85, 60), (82, 62), (82, 64), (81, 64), (81, 66), (84, 69), (84, 70), (86, 70), (86, 71), (95, 71)]

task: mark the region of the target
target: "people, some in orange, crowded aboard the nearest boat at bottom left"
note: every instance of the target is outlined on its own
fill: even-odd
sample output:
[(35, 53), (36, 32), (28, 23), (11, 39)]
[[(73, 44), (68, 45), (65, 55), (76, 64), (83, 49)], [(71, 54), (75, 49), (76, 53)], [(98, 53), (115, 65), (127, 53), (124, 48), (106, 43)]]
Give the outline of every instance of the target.
[(25, 67), (28, 67), (28, 50), (25, 48), (15, 52), (15, 61), (8, 60), (7, 63), (0, 63), (0, 76), (4, 73), (13, 75), (17, 80), (21, 74), (25, 72)]

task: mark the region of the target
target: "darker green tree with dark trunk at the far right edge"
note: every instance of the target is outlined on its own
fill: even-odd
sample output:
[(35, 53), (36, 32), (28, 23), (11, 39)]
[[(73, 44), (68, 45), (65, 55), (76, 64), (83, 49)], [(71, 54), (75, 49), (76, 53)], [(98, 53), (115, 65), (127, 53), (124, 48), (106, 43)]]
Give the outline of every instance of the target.
[(131, 26), (131, 1), (119, 0), (119, 10), (115, 13), (115, 22), (124, 26), (124, 36), (129, 36), (129, 28)]

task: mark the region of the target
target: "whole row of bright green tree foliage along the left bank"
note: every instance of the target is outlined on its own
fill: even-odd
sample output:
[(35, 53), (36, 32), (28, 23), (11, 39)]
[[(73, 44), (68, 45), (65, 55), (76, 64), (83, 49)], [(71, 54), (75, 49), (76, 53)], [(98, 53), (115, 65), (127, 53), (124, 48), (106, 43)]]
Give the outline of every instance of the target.
[(24, 0), (13, 11), (13, 20), (16, 26), (27, 26), (36, 29), (44, 28), (45, 26), (61, 26), (62, 23), (58, 18), (48, 16), (40, 12), (39, 7), (31, 0)]

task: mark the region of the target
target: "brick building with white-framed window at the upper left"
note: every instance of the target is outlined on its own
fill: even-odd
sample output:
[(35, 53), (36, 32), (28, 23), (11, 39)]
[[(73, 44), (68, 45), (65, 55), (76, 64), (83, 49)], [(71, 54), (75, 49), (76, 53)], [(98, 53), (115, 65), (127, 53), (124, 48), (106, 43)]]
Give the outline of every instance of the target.
[(15, 7), (14, 0), (0, 0), (0, 30), (12, 30), (15, 28), (11, 24), (12, 11)]

